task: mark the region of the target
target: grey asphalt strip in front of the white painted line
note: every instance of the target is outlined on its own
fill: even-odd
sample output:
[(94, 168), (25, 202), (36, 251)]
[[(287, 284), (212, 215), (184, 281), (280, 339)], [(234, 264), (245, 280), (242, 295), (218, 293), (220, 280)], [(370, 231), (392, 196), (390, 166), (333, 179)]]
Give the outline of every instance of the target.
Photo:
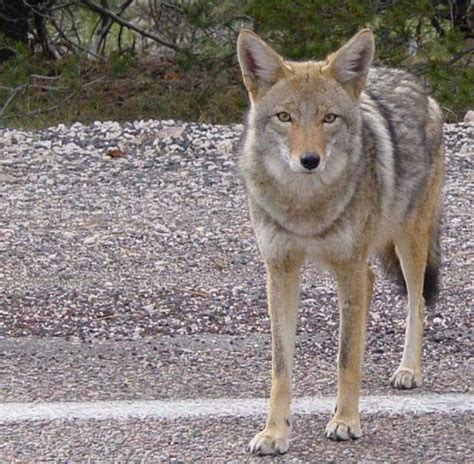
[(327, 441), (326, 419), (296, 417), (290, 451), (277, 458), (245, 451), (260, 417), (58, 421), (0, 426), (0, 433), (7, 462), (472, 462), (471, 415), (371, 416), (364, 437), (351, 443)]

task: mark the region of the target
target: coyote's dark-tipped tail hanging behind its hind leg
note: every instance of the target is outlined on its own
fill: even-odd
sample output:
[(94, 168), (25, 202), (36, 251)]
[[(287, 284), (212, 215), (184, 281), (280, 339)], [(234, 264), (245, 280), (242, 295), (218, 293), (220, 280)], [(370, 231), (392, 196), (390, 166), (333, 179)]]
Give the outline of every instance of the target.
[[(403, 277), (400, 259), (398, 258), (393, 242), (386, 245), (379, 256), (382, 261), (384, 271), (387, 273), (387, 275), (396, 280), (396, 282), (403, 289), (403, 292), (406, 294), (407, 286)], [(425, 269), (425, 278), (423, 282), (423, 297), (425, 298), (425, 302), (428, 305), (434, 303), (439, 292), (439, 266), (439, 229), (436, 227), (436, 230), (434, 231), (430, 240), (428, 259)]]

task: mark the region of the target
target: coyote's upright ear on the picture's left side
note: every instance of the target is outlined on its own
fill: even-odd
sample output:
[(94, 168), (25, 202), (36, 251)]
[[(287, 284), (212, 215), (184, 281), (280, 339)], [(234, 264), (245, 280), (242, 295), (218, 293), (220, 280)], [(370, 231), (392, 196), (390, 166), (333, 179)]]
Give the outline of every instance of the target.
[(237, 57), (245, 86), (254, 100), (289, 71), (283, 58), (247, 29), (240, 31), (237, 39)]

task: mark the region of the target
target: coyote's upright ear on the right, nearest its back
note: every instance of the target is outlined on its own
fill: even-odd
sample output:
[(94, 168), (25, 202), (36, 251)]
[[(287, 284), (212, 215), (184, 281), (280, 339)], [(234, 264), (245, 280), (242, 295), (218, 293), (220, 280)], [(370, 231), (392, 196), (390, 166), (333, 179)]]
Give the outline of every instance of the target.
[(374, 50), (374, 35), (370, 29), (364, 29), (328, 57), (324, 71), (329, 72), (353, 98), (358, 98), (367, 82)]

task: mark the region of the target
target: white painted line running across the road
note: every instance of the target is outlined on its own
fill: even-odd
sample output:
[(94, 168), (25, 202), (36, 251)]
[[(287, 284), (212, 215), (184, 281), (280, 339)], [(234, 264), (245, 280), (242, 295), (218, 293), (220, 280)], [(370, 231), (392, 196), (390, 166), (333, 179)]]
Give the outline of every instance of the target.
[[(331, 413), (334, 398), (296, 398), (293, 411), (297, 414)], [(30, 420), (126, 420), (177, 419), (200, 416), (253, 416), (265, 414), (268, 400), (202, 399), (202, 400), (142, 400), (51, 403), (0, 403), (0, 423)], [(363, 414), (456, 414), (474, 410), (474, 395), (440, 394), (412, 396), (366, 396), (361, 399)]]

